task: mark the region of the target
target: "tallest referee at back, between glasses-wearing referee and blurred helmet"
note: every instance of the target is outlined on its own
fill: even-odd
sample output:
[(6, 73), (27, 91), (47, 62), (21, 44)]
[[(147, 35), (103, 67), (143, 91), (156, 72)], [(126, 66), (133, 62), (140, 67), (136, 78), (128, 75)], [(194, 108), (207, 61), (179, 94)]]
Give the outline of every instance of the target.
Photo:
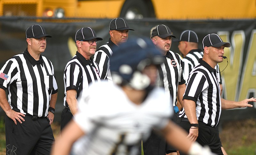
[(100, 78), (112, 81), (109, 67), (113, 49), (125, 43), (128, 40), (129, 30), (134, 31), (134, 29), (129, 28), (127, 21), (123, 18), (115, 18), (110, 21), (108, 30), (110, 38), (96, 51), (93, 60), (99, 64)]

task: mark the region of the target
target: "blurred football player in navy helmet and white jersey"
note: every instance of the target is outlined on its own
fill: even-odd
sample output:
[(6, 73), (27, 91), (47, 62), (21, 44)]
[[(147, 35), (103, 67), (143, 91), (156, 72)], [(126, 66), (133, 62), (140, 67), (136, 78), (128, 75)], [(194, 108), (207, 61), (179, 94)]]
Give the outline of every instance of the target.
[(111, 58), (113, 82), (89, 86), (52, 155), (136, 155), (152, 127), (188, 155), (213, 155), (169, 119), (173, 110), (168, 96), (155, 87), (163, 56), (149, 39), (128, 41)]

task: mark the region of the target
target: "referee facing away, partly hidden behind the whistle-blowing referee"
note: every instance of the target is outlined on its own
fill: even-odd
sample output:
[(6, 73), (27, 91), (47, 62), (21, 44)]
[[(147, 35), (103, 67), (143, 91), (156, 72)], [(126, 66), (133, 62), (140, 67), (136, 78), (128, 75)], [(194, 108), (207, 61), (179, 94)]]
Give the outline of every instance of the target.
[[(181, 33), (178, 48), (183, 55), (182, 68), (184, 72), (184, 79), (188, 82), (188, 76), (191, 70), (198, 64), (199, 58), (203, 58), (203, 51), (198, 49), (198, 37), (192, 30), (185, 30)], [(219, 64), (215, 66), (218, 80), (220, 83), (220, 95), (222, 93), (222, 80), (220, 75)]]

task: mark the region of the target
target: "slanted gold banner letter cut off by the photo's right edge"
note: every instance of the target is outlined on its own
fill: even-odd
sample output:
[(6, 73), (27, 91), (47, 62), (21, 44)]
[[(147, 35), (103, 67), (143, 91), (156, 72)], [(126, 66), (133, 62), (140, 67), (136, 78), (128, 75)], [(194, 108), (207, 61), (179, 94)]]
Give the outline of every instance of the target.
[(252, 31), (244, 68), (241, 74), (239, 89), (239, 101), (248, 98), (250, 93), (255, 97), (256, 92), (256, 29)]

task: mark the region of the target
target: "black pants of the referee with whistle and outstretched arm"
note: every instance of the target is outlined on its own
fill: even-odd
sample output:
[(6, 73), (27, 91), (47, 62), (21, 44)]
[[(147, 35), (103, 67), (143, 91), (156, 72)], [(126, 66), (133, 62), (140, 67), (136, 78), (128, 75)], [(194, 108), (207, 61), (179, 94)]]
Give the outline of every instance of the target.
[[(189, 133), (191, 126), (189, 121), (180, 121), (178, 125)], [(208, 145), (213, 153), (223, 155), (218, 128), (213, 128), (199, 121), (198, 137), (196, 141), (202, 146)], [(183, 155), (183, 153), (180, 152), (180, 155)]]

